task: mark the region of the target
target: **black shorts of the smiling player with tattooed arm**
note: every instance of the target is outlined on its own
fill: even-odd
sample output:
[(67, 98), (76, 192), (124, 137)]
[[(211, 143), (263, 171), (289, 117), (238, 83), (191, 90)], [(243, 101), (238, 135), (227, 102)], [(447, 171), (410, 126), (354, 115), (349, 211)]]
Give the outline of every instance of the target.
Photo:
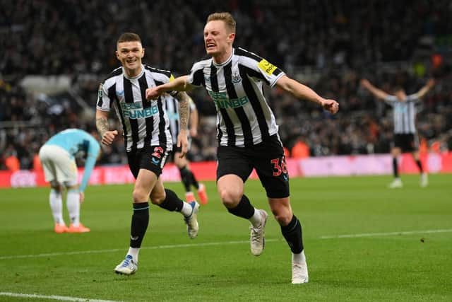
[(163, 166), (168, 158), (168, 152), (162, 146), (147, 146), (136, 151), (127, 152), (129, 168), (135, 177), (140, 169), (153, 171), (157, 177), (162, 174)]

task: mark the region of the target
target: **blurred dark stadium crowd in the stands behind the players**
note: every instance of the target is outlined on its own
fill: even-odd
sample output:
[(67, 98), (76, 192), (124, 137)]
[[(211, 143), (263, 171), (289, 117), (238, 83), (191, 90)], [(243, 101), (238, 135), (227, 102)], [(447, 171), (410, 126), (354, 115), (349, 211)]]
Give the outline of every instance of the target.
[[(340, 103), (333, 117), (277, 89), (267, 91), (288, 151), (304, 144), (310, 156), (388, 152), (390, 108), (359, 88), (359, 80), (414, 93), (432, 76), (437, 84), (419, 108), (422, 146), (452, 149), (451, 1), (0, 0), (0, 6), (0, 169), (35, 168), (40, 146), (62, 129), (97, 137), (93, 115), (71, 95), (25, 91), (19, 85), (25, 76), (69, 75), (94, 110), (98, 83), (119, 66), (111, 37), (136, 32), (146, 48), (144, 62), (186, 74), (204, 56), (203, 23), (213, 11), (233, 13), (240, 33), (235, 47), (271, 59)], [(213, 102), (205, 93), (192, 97), (201, 123), (190, 159), (214, 160)], [(103, 151), (99, 163), (126, 163), (120, 140)]]

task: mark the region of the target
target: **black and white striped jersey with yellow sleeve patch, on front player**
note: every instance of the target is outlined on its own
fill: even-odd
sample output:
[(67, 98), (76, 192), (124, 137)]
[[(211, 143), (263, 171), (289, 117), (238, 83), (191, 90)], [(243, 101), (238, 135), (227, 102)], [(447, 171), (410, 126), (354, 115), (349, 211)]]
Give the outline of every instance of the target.
[(252, 146), (278, 134), (275, 115), (263, 95), (285, 73), (266, 59), (234, 48), (225, 63), (196, 62), (189, 83), (206, 87), (217, 109), (218, 144)]

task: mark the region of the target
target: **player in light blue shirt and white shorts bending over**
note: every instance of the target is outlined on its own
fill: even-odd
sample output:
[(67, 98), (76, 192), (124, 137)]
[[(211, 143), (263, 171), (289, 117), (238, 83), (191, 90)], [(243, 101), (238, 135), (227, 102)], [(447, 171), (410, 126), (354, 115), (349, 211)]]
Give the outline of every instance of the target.
[[(100, 155), (100, 145), (93, 136), (81, 129), (66, 129), (51, 137), (40, 149), (44, 176), (50, 182), (49, 203), (54, 216), (56, 233), (85, 233), (90, 229), (80, 223), (80, 204), (85, 188)], [(76, 158), (85, 158), (85, 170), (78, 185)], [(64, 223), (62, 189), (67, 189), (66, 207), (71, 219), (69, 228)]]

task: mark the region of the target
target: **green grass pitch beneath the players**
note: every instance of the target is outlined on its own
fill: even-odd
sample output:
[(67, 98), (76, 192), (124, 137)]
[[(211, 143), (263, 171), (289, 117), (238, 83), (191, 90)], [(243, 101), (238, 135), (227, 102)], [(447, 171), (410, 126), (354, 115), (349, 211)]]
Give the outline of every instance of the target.
[[(386, 188), (390, 176), (290, 180), (309, 265), (302, 285), (290, 284), (290, 250), (278, 223), (269, 219), (266, 250), (252, 256), (248, 221), (227, 213), (214, 182), (206, 182), (210, 202), (194, 240), (179, 213), (151, 207), (131, 277), (113, 272), (129, 246), (131, 185), (88, 187), (81, 220), (92, 231), (83, 234), (53, 233), (47, 187), (0, 190), (0, 292), (121, 301), (452, 301), (452, 175), (430, 175), (427, 188), (418, 180), (403, 175), (399, 190)], [(182, 196), (182, 184), (166, 186)], [(246, 194), (269, 211), (258, 181), (246, 182)], [(322, 237), (429, 230), (446, 231)]]

